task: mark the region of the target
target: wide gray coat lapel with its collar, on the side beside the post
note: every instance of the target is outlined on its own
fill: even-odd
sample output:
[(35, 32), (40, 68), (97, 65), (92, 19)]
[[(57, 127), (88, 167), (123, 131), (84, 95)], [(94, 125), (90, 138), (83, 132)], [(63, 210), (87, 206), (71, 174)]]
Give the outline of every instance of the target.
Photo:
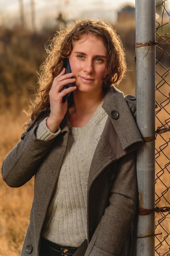
[[(108, 119), (92, 159), (88, 188), (106, 166), (143, 144), (135, 119), (122, 92), (110, 88), (102, 107), (107, 112)], [(118, 118), (111, 115), (113, 112), (118, 113)]]

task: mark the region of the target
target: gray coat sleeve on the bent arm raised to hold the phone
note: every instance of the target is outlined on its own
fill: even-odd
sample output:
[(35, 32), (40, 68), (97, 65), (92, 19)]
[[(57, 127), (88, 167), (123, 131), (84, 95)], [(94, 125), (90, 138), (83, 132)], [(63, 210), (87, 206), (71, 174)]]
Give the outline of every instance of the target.
[(4, 159), (2, 178), (11, 187), (22, 186), (35, 175), (38, 164), (54, 141), (37, 139), (36, 129), (37, 126), (26, 132)]

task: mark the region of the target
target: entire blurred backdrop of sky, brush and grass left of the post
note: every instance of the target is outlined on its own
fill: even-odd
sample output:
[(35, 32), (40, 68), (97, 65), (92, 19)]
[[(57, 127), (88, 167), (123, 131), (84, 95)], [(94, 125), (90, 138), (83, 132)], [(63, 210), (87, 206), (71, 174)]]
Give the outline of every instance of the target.
[[(102, 18), (117, 30), (128, 68), (118, 89), (135, 95), (135, 0), (0, 0), (0, 166), (29, 119), (23, 110), (37, 90), (45, 44), (72, 20), (84, 18)], [(9, 188), (0, 177), (0, 256), (20, 255), (33, 185), (32, 179)]]

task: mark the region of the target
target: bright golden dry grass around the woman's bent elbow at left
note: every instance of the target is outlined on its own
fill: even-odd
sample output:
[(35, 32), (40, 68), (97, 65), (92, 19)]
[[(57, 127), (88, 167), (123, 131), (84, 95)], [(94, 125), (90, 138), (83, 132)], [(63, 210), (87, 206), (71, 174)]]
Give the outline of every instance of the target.
[[(23, 132), (24, 117), (0, 115), (0, 166)], [(33, 200), (33, 181), (10, 188), (0, 177), (0, 256), (19, 256)]]

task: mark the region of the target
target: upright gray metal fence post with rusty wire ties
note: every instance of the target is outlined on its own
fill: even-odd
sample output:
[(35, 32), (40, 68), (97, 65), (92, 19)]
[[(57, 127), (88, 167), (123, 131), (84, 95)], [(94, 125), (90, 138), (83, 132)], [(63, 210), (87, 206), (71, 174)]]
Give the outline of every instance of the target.
[(137, 152), (136, 256), (155, 255), (155, 5), (136, 0), (137, 124), (148, 141)]

